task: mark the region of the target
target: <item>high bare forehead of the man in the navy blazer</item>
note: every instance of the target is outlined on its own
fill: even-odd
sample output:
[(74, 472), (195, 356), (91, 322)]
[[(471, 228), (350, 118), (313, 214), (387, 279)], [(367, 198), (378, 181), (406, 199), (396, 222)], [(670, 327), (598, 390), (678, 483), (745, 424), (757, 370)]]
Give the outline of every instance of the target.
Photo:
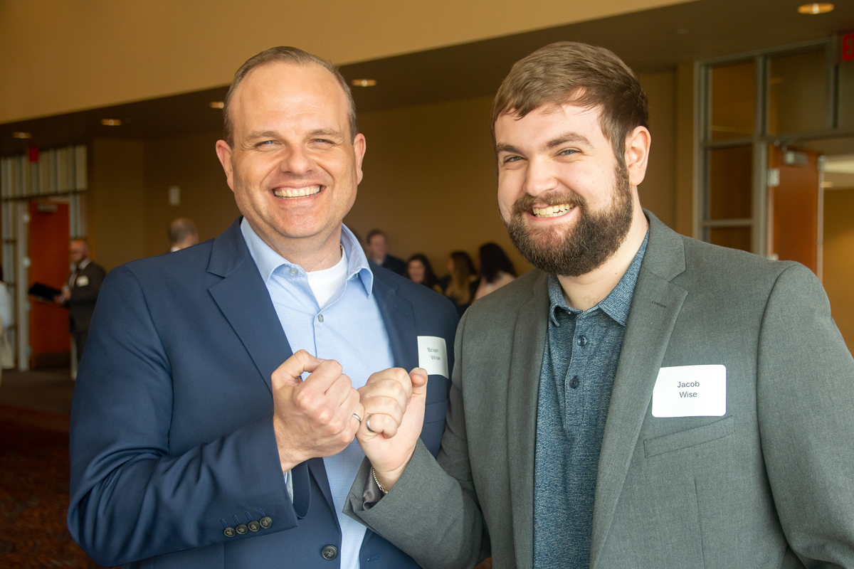
[(246, 74), (237, 85), (229, 112), (236, 131), (269, 119), (346, 123), (348, 102), (341, 84), (324, 67), (274, 61)]

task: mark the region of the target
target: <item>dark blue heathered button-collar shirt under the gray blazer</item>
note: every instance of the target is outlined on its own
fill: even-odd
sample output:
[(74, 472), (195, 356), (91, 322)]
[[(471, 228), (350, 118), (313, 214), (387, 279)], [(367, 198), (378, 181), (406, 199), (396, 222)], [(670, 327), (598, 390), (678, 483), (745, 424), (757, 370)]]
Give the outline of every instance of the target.
[(546, 349), (537, 400), (535, 569), (590, 565), (596, 473), (611, 386), (649, 232), (629, 269), (599, 304), (570, 308), (548, 277)]

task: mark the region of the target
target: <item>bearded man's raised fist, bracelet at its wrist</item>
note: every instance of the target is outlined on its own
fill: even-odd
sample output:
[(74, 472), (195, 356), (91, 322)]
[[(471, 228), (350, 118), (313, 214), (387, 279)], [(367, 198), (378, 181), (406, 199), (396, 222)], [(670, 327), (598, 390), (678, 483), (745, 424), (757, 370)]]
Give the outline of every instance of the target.
[[(368, 378), (359, 390), (366, 417), (356, 438), (388, 491), (407, 469), (424, 425), (427, 371), (383, 369)], [(368, 431), (367, 418), (371, 417)]]

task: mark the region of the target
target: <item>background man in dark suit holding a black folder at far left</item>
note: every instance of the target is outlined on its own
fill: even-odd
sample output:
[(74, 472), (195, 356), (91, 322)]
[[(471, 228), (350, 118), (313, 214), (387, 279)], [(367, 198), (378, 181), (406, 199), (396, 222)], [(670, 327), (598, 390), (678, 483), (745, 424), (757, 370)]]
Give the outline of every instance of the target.
[(68, 273), (62, 292), (56, 295), (54, 302), (68, 309), (68, 330), (74, 339), (77, 361), (83, 357), (86, 337), (98, 291), (107, 273), (100, 264), (94, 263), (89, 256), (89, 243), (85, 239), (71, 240), (68, 245), (68, 257), (71, 259), (71, 272)]

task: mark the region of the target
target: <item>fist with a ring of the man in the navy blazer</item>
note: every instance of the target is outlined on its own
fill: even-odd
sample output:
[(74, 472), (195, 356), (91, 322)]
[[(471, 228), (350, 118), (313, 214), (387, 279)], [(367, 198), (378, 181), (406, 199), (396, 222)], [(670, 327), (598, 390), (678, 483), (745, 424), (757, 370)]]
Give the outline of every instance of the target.
[[(303, 372), (310, 372), (305, 381)], [(359, 392), (335, 360), (297, 351), (272, 373), (273, 430), (282, 472), (315, 456), (335, 455), (353, 441), (365, 411)]]

